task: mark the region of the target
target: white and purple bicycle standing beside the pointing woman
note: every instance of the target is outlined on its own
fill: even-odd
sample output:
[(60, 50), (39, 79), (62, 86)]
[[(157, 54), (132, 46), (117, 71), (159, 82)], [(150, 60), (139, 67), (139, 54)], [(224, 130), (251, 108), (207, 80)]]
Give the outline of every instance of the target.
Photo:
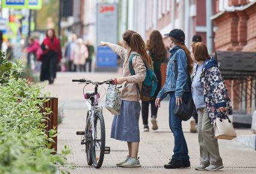
[(110, 147), (105, 146), (105, 123), (102, 115), (102, 107), (98, 106), (100, 98), (98, 86), (104, 83), (114, 84), (114, 81), (92, 82), (91, 80), (80, 79), (72, 80), (72, 82), (95, 85), (95, 91), (84, 92), (83, 89), (84, 98), (90, 100), (89, 104), (87, 104), (89, 110), (87, 111), (85, 130), (76, 131), (76, 135), (81, 135), (81, 145), (86, 145), (87, 164), (99, 169), (102, 166), (104, 154), (110, 154)]

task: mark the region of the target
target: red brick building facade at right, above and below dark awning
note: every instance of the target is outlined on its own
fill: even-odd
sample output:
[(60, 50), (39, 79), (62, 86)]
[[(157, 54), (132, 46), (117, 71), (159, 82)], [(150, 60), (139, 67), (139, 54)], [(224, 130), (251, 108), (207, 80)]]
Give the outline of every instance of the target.
[[(216, 50), (256, 52), (256, 1), (229, 0), (226, 7), (216, 1)], [(255, 80), (226, 80), (235, 110), (251, 114), (255, 110)]]

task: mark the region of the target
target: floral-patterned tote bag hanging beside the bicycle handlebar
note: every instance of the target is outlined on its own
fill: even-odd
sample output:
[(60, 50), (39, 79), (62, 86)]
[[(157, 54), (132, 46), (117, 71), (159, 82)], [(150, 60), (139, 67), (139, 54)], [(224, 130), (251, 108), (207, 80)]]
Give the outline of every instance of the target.
[(120, 115), (121, 110), (121, 92), (117, 85), (108, 85), (105, 108), (113, 115)]

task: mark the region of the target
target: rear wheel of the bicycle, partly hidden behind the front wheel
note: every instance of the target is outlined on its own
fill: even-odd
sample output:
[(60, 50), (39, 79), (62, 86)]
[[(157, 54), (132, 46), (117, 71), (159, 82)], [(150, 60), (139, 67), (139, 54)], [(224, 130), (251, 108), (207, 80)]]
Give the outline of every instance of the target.
[(86, 130), (85, 130), (85, 138), (86, 138), (86, 159), (87, 164), (92, 166), (92, 133), (90, 131), (91, 129), (91, 123), (90, 123), (90, 117), (87, 116), (87, 122), (86, 122)]

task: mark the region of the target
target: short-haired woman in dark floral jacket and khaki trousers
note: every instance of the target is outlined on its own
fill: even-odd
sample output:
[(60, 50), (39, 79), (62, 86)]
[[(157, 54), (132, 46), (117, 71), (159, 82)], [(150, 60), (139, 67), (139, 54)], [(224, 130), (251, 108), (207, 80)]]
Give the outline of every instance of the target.
[(192, 83), (200, 146), (200, 164), (195, 169), (219, 170), (223, 168), (223, 163), (217, 139), (214, 138), (213, 121), (232, 114), (231, 102), (217, 62), (210, 57), (204, 43), (192, 44), (192, 59), (198, 64)]

